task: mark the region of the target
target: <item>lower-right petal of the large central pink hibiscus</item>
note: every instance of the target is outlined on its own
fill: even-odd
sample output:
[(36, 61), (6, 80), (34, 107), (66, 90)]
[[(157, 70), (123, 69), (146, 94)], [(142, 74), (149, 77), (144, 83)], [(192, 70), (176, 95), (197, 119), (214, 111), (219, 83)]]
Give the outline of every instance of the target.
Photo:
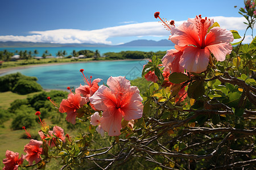
[(141, 101), (131, 101), (129, 105), (126, 105), (126, 107), (121, 108), (123, 118), (126, 121), (130, 120), (136, 120), (138, 118), (142, 117), (143, 113), (143, 104)]

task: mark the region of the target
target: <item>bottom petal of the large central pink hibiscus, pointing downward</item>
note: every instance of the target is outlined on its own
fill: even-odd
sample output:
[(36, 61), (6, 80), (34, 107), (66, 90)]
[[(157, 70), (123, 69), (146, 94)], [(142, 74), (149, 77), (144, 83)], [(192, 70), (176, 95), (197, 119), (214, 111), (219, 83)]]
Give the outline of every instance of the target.
[(101, 126), (102, 129), (108, 132), (109, 136), (118, 136), (121, 134), (121, 121), (122, 113), (119, 109), (108, 108), (102, 113)]

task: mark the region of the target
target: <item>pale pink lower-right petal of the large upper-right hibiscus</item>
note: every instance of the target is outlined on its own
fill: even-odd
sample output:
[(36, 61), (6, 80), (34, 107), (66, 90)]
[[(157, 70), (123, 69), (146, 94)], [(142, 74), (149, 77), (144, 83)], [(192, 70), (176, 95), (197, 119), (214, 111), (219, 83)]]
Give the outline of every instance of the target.
[(210, 50), (210, 52), (213, 53), (217, 61), (224, 61), (226, 58), (226, 54), (230, 54), (233, 49), (232, 45), (228, 42), (208, 45), (207, 48)]

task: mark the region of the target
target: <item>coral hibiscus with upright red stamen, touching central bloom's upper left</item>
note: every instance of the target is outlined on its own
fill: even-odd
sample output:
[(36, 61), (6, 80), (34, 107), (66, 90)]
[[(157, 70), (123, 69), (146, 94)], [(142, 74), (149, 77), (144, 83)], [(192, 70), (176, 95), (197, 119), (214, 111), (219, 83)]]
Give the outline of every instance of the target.
[[(84, 69), (81, 69), (80, 72), (82, 73), (82, 75), (84, 75)], [(85, 101), (86, 103), (89, 101), (89, 97), (92, 96), (94, 94), (94, 92), (96, 92), (98, 90), (98, 83), (102, 80), (102, 79), (94, 79), (92, 81), (92, 76), (90, 76), (90, 80), (88, 80), (88, 78), (85, 77), (84, 75), (84, 80), (85, 83), (88, 85), (82, 86), (80, 84), (79, 88), (76, 88), (76, 94), (82, 95), (83, 97), (85, 97)]]

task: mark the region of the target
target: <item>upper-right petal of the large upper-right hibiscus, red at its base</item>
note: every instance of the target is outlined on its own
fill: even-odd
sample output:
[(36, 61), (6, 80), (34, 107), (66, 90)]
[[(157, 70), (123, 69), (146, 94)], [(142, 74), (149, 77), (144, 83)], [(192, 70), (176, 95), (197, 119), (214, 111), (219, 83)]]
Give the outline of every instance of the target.
[(210, 29), (210, 32), (207, 34), (205, 39), (205, 45), (214, 45), (223, 42), (232, 42), (234, 40), (232, 32), (220, 28), (220, 27), (213, 27)]

